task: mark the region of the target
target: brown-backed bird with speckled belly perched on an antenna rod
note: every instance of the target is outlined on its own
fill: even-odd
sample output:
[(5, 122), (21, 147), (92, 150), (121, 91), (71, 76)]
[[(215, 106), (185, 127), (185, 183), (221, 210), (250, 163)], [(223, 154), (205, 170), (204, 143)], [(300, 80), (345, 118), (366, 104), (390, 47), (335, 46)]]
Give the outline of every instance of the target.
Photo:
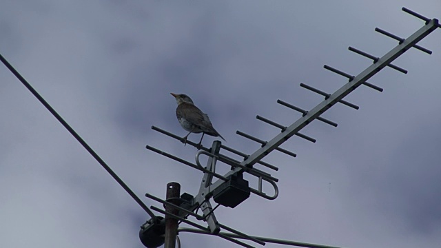
[(181, 127), (189, 133), (183, 137), (183, 143), (187, 145), (187, 137), (191, 133), (202, 134), (201, 141), (199, 141), (198, 149), (201, 147), (202, 138), (204, 134), (217, 137), (219, 136), (225, 141), (225, 138), (221, 136), (213, 127), (212, 122), (209, 121), (208, 115), (199, 110), (196, 107), (189, 96), (186, 94), (174, 94), (170, 93), (176, 99), (178, 107), (176, 107), (176, 117), (178, 118)]

